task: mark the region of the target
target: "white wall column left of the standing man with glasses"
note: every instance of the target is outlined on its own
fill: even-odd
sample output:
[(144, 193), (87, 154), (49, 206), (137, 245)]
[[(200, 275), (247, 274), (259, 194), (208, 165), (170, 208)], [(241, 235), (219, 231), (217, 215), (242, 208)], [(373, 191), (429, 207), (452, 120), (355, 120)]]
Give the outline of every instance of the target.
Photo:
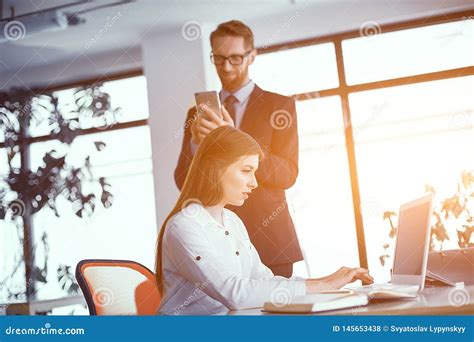
[(181, 30), (152, 35), (143, 41), (142, 49), (160, 227), (178, 196), (173, 175), (186, 113), (193, 104), (193, 93), (206, 88), (206, 49), (200, 37), (187, 40)]

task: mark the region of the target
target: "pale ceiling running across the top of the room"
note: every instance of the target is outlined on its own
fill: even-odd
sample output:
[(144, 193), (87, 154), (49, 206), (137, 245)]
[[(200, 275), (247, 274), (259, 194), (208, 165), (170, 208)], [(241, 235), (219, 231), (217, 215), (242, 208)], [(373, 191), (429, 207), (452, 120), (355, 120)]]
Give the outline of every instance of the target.
[[(63, 9), (74, 13), (93, 7), (113, 4), (119, 1), (74, 0), (3, 0), (3, 18), (10, 17), (10, 7), (14, 6), (15, 15), (49, 9), (55, 6), (75, 4)], [(381, 17), (393, 17), (397, 11), (408, 17), (419, 17), (430, 10), (452, 11), (455, 8), (471, 6), (468, 0), (159, 0), (135, 1), (114, 7), (100, 8), (81, 14), (85, 23), (69, 27), (63, 31), (44, 32), (28, 35), (17, 41), (0, 43), (0, 76), (9, 75), (19, 69), (38, 68), (64, 62), (78, 54), (100, 55), (114, 50), (140, 48), (143, 38), (148, 34), (176, 30), (187, 22), (218, 23), (238, 18), (249, 23), (265, 24), (271, 16), (305, 11), (326, 18), (331, 13), (337, 19), (341, 8), (351, 7), (351, 11), (369, 11), (376, 7)], [(332, 12), (331, 12), (332, 11)], [(263, 19), (263, 20), (262, 20)], [(344, 19), (339, 19), (343, 22)], [(271, 20), (270, 20), (271, 22)], [(338, 30), (337, 20), (333, 30)], [(94, 37), (100, 37), (98, 43)]]

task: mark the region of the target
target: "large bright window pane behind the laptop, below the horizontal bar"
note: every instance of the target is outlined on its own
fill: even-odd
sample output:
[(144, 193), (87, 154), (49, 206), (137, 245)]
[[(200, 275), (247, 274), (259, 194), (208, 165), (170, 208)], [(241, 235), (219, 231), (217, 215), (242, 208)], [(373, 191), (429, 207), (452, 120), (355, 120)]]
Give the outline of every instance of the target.
[[(470, 76), (351, 94), (367, 254), (379, 279), (388, 280), (393, 262), (384, 268), (379, 260), (383, 245), (390, 243), (389, 255), (394, 245), (384, 212), (398, 212), (425, 185), (436, 189), (439, 203), (451, 196), (463, 170), (474, 170), (473, 91)], [(458, 248), (456, 228), (447, 228), (444, 248)]]

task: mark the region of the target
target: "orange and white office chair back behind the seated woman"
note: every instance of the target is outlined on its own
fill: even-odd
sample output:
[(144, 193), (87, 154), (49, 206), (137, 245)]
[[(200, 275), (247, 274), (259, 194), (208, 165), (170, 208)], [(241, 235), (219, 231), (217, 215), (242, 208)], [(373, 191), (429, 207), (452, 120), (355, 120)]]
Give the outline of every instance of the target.
[(155, 275), (129, 260), (86, 259), (76, 279), (91, 315), (155, 315), (161, 295)]

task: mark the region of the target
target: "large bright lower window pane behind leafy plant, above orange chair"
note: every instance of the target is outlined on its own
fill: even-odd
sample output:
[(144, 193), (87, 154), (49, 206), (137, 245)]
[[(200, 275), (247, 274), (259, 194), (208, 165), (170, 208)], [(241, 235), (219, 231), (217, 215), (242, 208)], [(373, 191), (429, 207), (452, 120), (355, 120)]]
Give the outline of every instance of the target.
[[(60, 217), (49, 208), (34, 216), (33, 235), (38, 238), (44, 232), (48, 234), (49, 269), (55, 270), (60, 264), (75, 266), (82, 259), (127, 259), (153, 269), (157, 230), (150, 130), (141, 126), (78, 137), (68, 154), (71, 162), (81, 162), (86, 151), (94, 151), (95, 141), (105, 143), (106, 148), (91, 156), (91, 171), (111, 184), (112, 206), (105, 209), (97, 205), (91, 217), (79, 218), (71, 203), (62, 200), (58, 203)], [(34, 144), (32, 168), (56, 144)], [(42, 260), (38, 254), (36, 262)], [(61, 294), (56, 274), (51, 272), (48, 277), (48, 283), (38, 287), (41, 299)]]

